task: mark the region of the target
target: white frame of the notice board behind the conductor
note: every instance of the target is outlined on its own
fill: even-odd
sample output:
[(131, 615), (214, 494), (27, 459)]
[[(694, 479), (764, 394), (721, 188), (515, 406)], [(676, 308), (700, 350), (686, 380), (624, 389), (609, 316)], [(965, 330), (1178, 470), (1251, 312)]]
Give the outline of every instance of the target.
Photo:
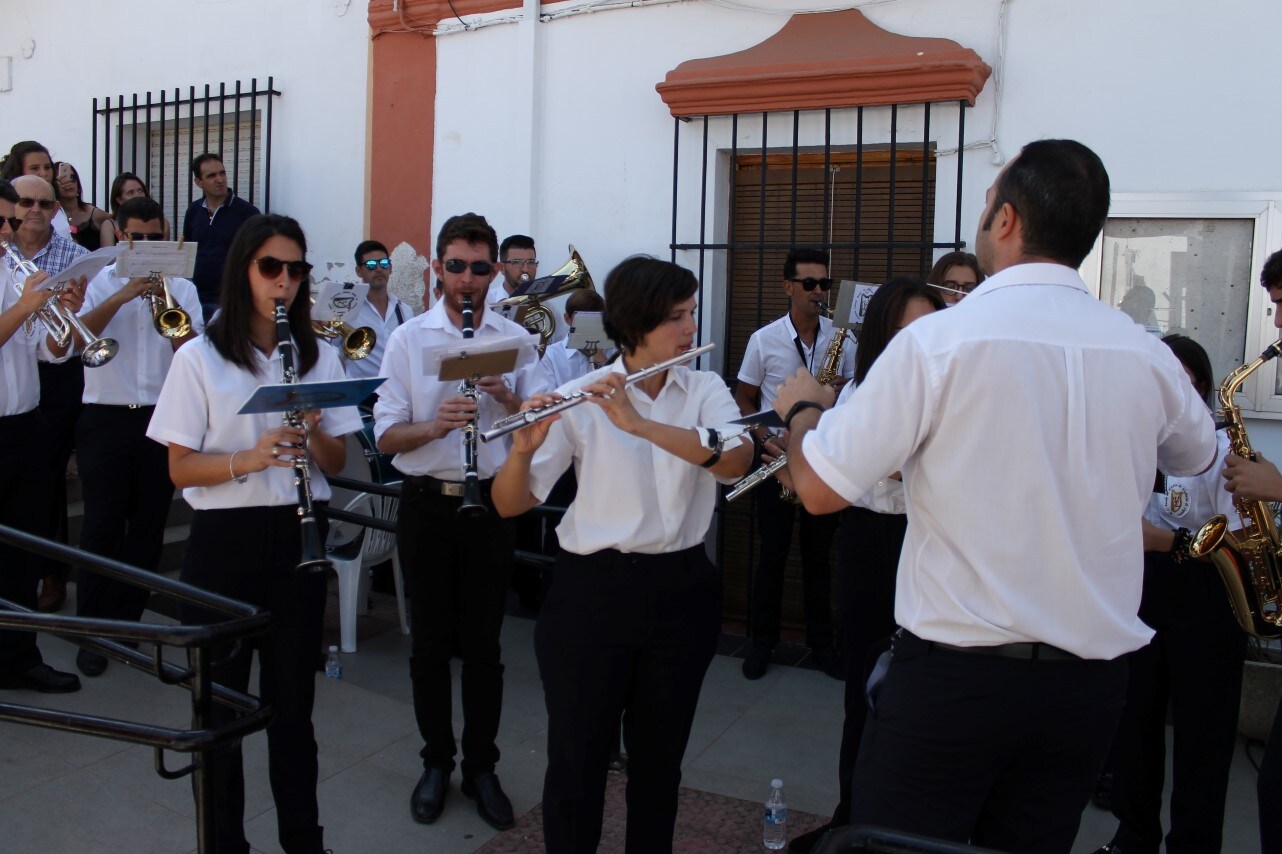
[[(1259, 286), (1265, 259), (1282, 249), (1282, 190), (1270, 192), (1114, 192), (1110, 218), (1126, 219), (1253, 219), (1251, 281), (1247, 291), (1246, 350), (1242, 362), (1254, 360), (1278, 340), (1273, 328), (1273, 304)], [(1096, 299), (1100, 296), (1104, 236), (1095, 241), (1082, 262), (1081, 273)], [(1273, 394), (1277, 367), (1260, 369), (1246, 381), (1237, 396), (1244, 414), (1282, 421), (1282, 395)]]

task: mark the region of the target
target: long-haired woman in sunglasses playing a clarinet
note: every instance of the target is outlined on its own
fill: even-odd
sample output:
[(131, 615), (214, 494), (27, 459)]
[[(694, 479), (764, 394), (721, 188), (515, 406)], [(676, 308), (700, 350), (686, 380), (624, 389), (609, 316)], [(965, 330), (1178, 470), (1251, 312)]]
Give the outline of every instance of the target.
[[(306, 430), (282, 426), (278, 413), (240, 415), (246, 398), (282, 380), (274, 312), (288, 309), (301, 381), (342, 380), (338, 358), (312, 332), (306, 239), (287, 217), (255, 215), (227, 253), (219, 312), (205, 335), (174, 354), (147, 436), (169, 448), (169, 476), (196, 513), (182, 580), (272, 613), (267, 635), (213, 669), (214, 681), (244, 691), (253, 650), (259, 653), (259, 694), (276, 714), (267, 728), (268, 768), (281, 848), (323, 850), (317, 810), (317, 744), (312, 728), (326, 577), (299, 563), (294, 456), (306, 442), (312, 492), (329, 498), (322, 472), (342, 468), (341, 436), (360, 430), (355, 408), (309, 412)], [(320, 539), (324, 515), (320, 514)], [(217, 622), (195, 608), (183, 623)], [(215, 658), (227, 650), (215, 653)], [(229, 713), (214, 707), (214, 723)], [(245, 786), (240, 746), (213, 760), (219, 851), (249, 851), (244, 830)]]

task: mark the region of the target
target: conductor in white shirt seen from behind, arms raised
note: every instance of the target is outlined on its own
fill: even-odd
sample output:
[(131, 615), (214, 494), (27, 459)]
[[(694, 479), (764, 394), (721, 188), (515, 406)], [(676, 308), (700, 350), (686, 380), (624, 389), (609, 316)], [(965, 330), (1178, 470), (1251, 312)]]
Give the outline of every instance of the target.
[[(851, 404), (779, 390), (788, 471), (826, 513), (903, 471), (896, 633), (851, 823), (1068, 851), (1149, 642), (1136, 519), (1156, 468), (1205, 471), (1215, 433), (1178, 359), (1076, 268), (1109, 180), (1072, 140), (1027, 145), (988, 190), (959, 305), (895, 336)], [(874, 677), (876, 680), (876, 677)]]

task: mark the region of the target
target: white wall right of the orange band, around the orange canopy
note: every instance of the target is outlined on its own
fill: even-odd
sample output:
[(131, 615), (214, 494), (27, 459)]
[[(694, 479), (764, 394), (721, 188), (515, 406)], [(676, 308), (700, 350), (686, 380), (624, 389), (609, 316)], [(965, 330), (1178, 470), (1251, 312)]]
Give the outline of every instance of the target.
[[(968, 113), (968, 142), (988, 140), (996, 110), (997, 145), (1005, 158), (1035, 138), (1078, 138), (1104, 159), (1115, 192), (1282, 188), (1277, 156), (1282, 112), (1272, 109), (1270, 60), (1274, 33), (1282, 29), (1282, 4), (1011, 0), (1000, 68), (999, 9), (1000, 0), (900, 0), (868, 5), (864, 13), (892, 32), (953, 38), (1003, 74), (1000, 103), (990, 78)], [(536, 24), (536, 64), (519, 67), (518, 26), (441, 37), (433, 230), (453, 213), (478, 210), (500, 236), (533, 235), (540, 255), (551, 263), (560, 260), (564, 244), (574, 242), (597, 277), (632, 253), (665, 258), (673, 121), (655, 83), (682, 60), (750, 47), (786, 21), (710, 3), (594, 12)], [(541, 123), (504, 126), (503, 117), (510, 113), (505, 94), (523, 91), (532, 68)], [(495, 122), (478, 121), (486, 110)], [(956, 124), (944, 112), (932, 117), (932, 137), (940, 149), (949, 149), (956, 141)], [(872, 115), (865, 119), (869, 127), (877, 124)], [(758, 119), (740, 123), (740, 149), (759, 145), (758, 127)], [(804, 128), (803, 145), (822, 145), (818, 122), (806, 121)], [(714, 149), (729, 147), (728, 121), (714, 122), (710, 132)], [(510, 141), (528, 141), (531, 133), (533, 156), (513, 156)], [(906, 133), (913, 138), (914, 131)], [(681, 135), (678, 242), (697, 239), (701, 135), (697, 122)], [(769, 141), (791, 144), (791, 117), (772, 122)], [(887, 138), (870, 135), (867, 141)], [(1000, 168), (992, 154), (965, 153), (962, 235), (968, 242), (983, 192)], [(937, 167), (941, 239), (953, 231), (955, 163), (954, 155), (944, 155)], [(724, 178), (717, 190), (723, 188)], [(724, 194), (719, 195), (709, 199), (710, 222), (724, 219)], [(692, 256), (679, 260), (696, 264)], [(724, 271), (718, 259), (709, 262), (708, 282), (720, 287)], [(1269, 335), (1268, 321), (1263, 306), (1256, 310), (1260, 317), (1253, 323), (1263, 337)], [(1254, 422), (1253, 440), (1282, 458), (1282, 423)]]

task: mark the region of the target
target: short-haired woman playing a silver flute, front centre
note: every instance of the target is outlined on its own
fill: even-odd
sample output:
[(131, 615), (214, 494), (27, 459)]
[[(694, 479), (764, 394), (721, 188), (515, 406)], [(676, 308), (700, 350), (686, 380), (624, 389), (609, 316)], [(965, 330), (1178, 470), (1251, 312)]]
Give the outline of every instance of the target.
[[(615, 267), (604, 321), (622, 358), (562, 386), (590, 394), (590, 405), (514, 433), (495, 478), (494, 504), (508, 517), (546, 500), (572, 463), (578, 478), (535, 628), (550, 854), (596, 850), (620, 716), (627, 850), (672, 850), (681, 758), (720, 633), (720, 578), (704, 535), (717, 483), (744, 474), (753, 446), (709, 430), (738, 418), (718, 374), (682, 365), (633, 385), (624, 374), (694, 346), (697, 289), (690, 271), (668, 262), (637, 256)], [(535, 395), (526, 406), (556, 396)]]

